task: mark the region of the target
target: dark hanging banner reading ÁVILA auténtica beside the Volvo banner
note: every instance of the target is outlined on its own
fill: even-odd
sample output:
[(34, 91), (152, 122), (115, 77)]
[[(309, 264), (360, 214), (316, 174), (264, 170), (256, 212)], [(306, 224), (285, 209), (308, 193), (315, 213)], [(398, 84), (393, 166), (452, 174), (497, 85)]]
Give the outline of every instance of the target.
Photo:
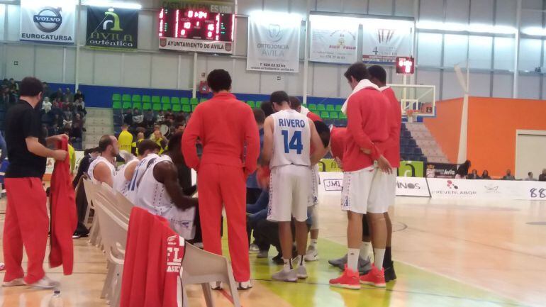
[(85, 45), (93, 48), (136, 50), (138, 10), (88, 6)]

